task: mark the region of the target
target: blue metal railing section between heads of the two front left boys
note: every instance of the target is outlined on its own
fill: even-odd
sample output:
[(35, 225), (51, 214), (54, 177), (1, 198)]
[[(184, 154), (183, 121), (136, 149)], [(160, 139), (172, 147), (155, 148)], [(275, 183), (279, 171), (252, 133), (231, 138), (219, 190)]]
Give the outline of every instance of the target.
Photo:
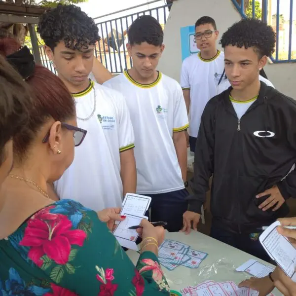
[[(156, 18), (160, 24), (165, 25), (171, 3), (155, 6), (157, 4), (159, 5), (161, 2), (163, 3), (161, 0), (154, 0), (132, 8), (94, 18), (102, 38), (98, 42), (98, 45), (95, 46), (95, 55), (112, 74), (122, 73), (124, 70), (132, 67), (132, 59), (128, 56), (126, 43), (128, 28), (136, 18), (148, 14)], [(148, 4), (153, 7), (143, 9), (143, 7), (147, 7)], [(132, 12), (124, 16), (119, 16), (122, 12), (128, 10)], [(119, 14), (118, 17), (108, 19), (108, 17), (114, 17), (116, 14)]]

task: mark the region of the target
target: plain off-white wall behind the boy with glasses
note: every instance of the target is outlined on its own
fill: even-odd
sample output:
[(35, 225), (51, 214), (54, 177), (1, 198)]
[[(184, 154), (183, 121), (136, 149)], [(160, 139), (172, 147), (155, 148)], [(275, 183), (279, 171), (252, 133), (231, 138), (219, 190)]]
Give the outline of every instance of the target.
[[(180, 80), (181, 37), (180, 28), (194, 25), (198, 18), (208, 15), (215, 19), (220, 36), (234, 22), (241, 19), (231, 0), (176, 0), (164, 29), (166, 45), (158, 69)], [(269, 64), (264, 68), (268, 79), (281, 92), (296, 99), (296, 63)]]

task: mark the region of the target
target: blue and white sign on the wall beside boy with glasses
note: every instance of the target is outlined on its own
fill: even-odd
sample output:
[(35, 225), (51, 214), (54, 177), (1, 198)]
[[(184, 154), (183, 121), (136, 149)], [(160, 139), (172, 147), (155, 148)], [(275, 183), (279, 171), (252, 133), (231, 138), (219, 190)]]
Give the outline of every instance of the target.
[(182, 27), (180, 33), (183, 61), (186, 57), (199, 52), (199, 49), (196, 47), (194, 26)]

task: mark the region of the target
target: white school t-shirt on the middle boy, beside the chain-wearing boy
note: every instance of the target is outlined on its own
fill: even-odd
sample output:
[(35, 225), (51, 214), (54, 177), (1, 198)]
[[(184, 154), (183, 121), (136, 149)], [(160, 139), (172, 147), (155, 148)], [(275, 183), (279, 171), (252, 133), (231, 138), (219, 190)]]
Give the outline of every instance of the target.
[(188, 128), (188, 118), (178, 82), (159, 72), (155, 82), (144, 85), (125, 72), (104, 85), (124, 94), (130, 111), (135, 133), (137, 193), (183, 189), (173, 132)]

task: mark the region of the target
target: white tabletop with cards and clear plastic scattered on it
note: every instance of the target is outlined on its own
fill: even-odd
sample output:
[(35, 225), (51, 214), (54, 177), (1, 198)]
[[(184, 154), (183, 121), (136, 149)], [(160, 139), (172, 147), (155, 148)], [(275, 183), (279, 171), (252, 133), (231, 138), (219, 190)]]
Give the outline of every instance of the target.
[[(180, 265), (176, 269), (169, 271), (162, 266), (171, 290), (180, 291), (182, 288), (195, 286), (205, 280), (215, 282), (233, 281), (238, 285), (244, 279), (250, 278), (250, 275), (245, 272), (237, 272), (235, 268), (249, 259), (256, 259), (272, 266), (200, 232), (191, 231), (189, 235), (180, 232), (166, 232), (166, 238), (183, 242), (190, 245), (192, 249), (208, 253), (207, 258), (201, 262), (200, 267), (197, 269), (190, 269)], [(127, 251), (127, 255), (134, 264), (137, 263), (139, 258), (137, 252)], [(282, 295), (276, 289), (272, 293), (276, 296)]]

